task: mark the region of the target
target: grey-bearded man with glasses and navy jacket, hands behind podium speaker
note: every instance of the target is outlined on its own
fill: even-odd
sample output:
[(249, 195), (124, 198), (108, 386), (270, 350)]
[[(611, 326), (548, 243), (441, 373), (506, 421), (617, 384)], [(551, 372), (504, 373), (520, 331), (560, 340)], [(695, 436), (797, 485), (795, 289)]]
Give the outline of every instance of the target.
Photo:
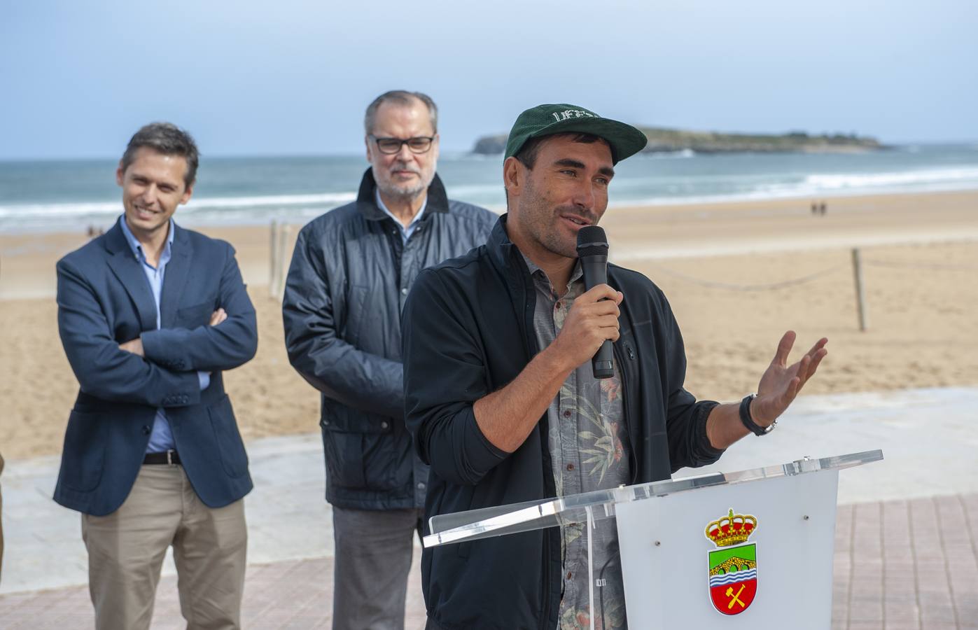
[(299, 233), (282, 305), (289, 361), (322, 397), (333, 628), (350, 630), (404, 627), (422, 532), (428, 470), (404, 426), (401, 308), (422, 269), (482, 245), (496, 221), (446, 197), (428, 96), (381, 94), (364, 127), (357, 201)]

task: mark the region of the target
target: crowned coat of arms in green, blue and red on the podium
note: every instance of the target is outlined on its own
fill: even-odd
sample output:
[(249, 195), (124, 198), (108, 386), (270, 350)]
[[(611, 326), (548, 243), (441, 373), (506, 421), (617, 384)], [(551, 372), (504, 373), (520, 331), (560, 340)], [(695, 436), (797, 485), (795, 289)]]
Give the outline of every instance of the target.
[(710, 600), (724, 614), (750, 607), (757, 594), (757, 545), (747, 539), (757, 529), (757, 518), (735, 515), (706, 525), (706, 537), (717, 546), (709, 552)]

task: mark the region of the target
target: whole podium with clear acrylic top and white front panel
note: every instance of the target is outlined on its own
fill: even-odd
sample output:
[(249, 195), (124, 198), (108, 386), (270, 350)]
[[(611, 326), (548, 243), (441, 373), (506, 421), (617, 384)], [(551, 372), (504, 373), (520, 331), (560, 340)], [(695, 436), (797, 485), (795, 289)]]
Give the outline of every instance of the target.
[[(882, 459), (879, 450), (805, 458), (439, 515), (423, 544), (569, 523), (590, 531), (615, 518), (629, 628), (822, 630), (831, 625), (838, 473)], [(589, 579), (595, 610), (594, 566)]]

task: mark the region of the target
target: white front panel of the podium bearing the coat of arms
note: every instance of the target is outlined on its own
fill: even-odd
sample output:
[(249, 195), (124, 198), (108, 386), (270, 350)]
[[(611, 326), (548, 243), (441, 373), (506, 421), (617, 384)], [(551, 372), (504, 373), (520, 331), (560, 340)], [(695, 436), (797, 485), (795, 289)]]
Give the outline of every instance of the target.
[[(629, 627), (828, 628), (837, 484), (822, 470), (619, 503)], [(715, 544), (711, 522), (738, 542)]]

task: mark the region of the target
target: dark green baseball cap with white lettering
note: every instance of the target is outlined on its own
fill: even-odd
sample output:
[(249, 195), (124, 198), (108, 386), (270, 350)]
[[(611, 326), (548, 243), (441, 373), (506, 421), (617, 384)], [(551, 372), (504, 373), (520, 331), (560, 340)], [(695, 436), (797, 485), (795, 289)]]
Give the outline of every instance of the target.
[(512, 123), (506, 142), (506, 158), (519, 153), (530, 138), (555, 133), (590, 133), (611, 145), (611, 159), (618, 163), (645, 149), (645, 134), (624, 122), (603, 118), (595, 112), (576, 105), (538, 105), (520, 113)]

